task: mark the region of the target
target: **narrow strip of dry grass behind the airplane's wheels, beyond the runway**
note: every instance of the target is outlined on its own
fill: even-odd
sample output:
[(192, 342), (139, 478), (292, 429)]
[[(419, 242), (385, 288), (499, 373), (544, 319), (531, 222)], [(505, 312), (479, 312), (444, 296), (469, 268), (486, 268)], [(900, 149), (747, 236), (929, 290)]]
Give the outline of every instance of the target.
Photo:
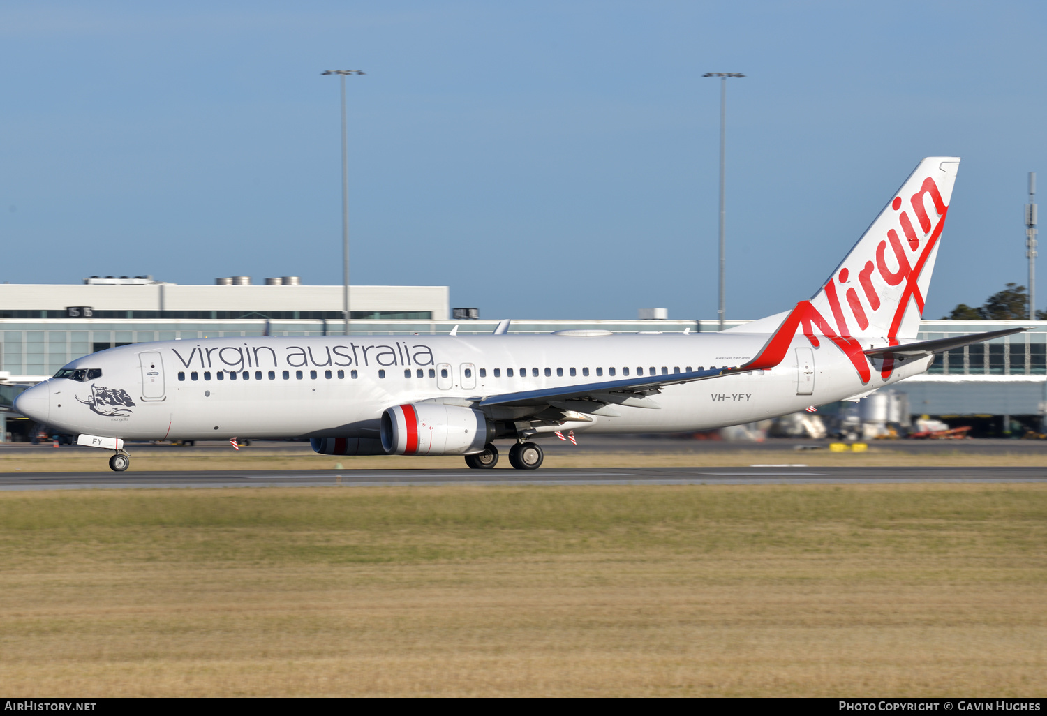
[[(503, 446), (503, 451), (508, 450)], [(346, 470), (370, 469), (459, 469), (460, 456), (417, 457), (407, 455), (335, 456), (305, 451), (267, 450), (246, 447), (236, 452), (185, 448), (185, 452), (136, 453), (130, 449), (132, 470)], [(108, 452), (98, 450), (58, 449), (30, 453), (0, 453), (3, 472), (109, 472)], [(968, 453), (961, 450), (927, 449), (919, 452), (892, 450), (889, 446), (870, 445), (868, 452), (829, 452), (828, 450), (747, 450), (695, 452), (670, 451), (659, 446), (649, 452), (578, 451), (576, 454), (549, 453), (547, 468), (637, 468), (637, 467), (745, 467), (753, 464), (805, 464), (811, 467), (1047, 467), (1047, 449), (1040, 453)], [(512, 469), (503, 454), (498, 469)]]

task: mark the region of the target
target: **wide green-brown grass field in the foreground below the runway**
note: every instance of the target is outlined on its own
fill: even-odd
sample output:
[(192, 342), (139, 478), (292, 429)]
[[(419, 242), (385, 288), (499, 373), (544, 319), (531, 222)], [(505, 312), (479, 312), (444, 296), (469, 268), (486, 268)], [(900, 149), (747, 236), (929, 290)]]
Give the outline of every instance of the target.
[(0, 493), (12, 696), (1047, 691), (1047, 486)]

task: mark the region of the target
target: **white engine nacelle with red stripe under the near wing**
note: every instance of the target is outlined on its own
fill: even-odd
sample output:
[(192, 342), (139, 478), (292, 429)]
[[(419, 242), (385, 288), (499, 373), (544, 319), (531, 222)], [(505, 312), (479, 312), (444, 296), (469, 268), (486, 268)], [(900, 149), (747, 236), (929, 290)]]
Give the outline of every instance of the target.
[(443, 403), (407, 403), (382, 413), (382, 448), (391, 455), (471, 455), (494, 440), (482, 411)]

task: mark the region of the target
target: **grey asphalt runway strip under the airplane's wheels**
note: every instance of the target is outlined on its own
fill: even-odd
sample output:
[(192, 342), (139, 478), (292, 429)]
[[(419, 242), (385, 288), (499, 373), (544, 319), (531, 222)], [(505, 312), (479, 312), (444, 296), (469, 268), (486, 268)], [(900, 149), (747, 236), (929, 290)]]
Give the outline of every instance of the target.
[(0, 490), (89, 488), (420, 487), (435, 485), (846, 485), (1047, 483), (1040, 467), (852, 467), (496, 470), (222, 470), (0, 473)]

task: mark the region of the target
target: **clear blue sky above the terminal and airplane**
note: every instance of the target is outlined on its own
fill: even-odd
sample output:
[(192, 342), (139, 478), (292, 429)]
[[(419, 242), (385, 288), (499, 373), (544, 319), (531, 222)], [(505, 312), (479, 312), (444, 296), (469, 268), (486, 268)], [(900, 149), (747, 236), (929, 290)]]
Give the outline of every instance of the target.
[(0, 281), (340, 283), (320, 71), (362, 69), (354, 284), (447, 285), (491, 318), (714, 318), (701, 73), (734, 71), (728, 317), (808, 297), (920, 158), (959, 155), (937, 318), (1026, 283), (1045, 24), (1034, 2), (7, 0)]

